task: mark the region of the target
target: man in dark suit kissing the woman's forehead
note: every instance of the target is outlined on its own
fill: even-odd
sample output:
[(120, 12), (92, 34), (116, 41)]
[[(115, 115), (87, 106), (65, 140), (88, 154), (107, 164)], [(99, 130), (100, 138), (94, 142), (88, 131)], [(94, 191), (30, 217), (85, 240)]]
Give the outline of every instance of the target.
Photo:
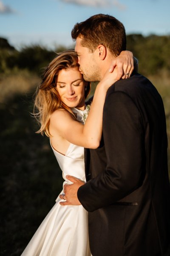
[[(77, 23), (80, 71), (100, 81), (126, 49), (125, 28), (109, 15)], [(97, 115), (97, 113), (96, 113)], [(89, 212), (93, 256), (163, 256), (170, 246), (170, 186), (164, 106), (152, 83), (133, 72), (113, 84), (103, 110), (99, 148), (86, 150), (87, 182), (65, 186), (62, 205)]]

